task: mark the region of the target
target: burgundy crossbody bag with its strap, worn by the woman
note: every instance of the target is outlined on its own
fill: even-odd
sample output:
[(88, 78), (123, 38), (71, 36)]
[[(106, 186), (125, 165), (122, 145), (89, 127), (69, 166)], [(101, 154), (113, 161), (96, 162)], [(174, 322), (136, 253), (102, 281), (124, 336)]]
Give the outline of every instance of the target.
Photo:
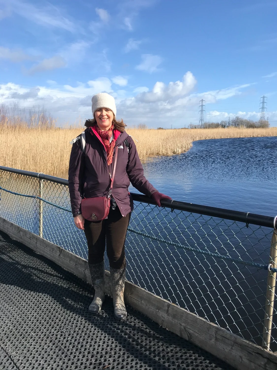
[(89, 221), (101, 221), (107, 218), (110, 210), (110, 196), (112, 195), (113, 180), (116, 170), (118, 147), (116, 147), (113, 176), (111, 177), (110, 189), (106, 196), (96, 196), (94, 198), (83, 198), (81, 202), (81, 211), (85, 219)]

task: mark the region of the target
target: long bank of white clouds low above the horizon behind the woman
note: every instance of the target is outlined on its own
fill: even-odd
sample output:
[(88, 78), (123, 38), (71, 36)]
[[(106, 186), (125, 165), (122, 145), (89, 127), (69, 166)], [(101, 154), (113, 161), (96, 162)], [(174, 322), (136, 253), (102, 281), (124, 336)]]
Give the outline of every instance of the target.
[[(118, 77), (118, 76), (117, 76)], [(206, 100), (205, 121), (221, 121), (232, 114), (227, 112), (208, 110), (210, 102), (220, 102), (228, 97), (241, 94), (243, 88), (250, 84), (229, 87), (222, 90), (195, 93), (196, 78), (187, 72), (180, 81), (165, 84), (157, 81), (148, 91), (147, 87), (137, 87), (130, 94), (126, 90), (117, 90), (113, 81), (107, 77), (89, 80), (86, 83), (59, 86), (51, 85), (25, 88), (16, 84), (0, 85), (0, 96), (4, 104), (11, 105), (19, 102), (25, 108), (44, 107), (58, 124), (63, 121), (73, 123), (80, 117), (82, 120), (90, 118), (91, 97), (98, 92), (108, 92), (116, 99), (117, 117), (123, 118), (127, 125), (145, 123), (149, 127), (184, 127), (189, 122), (199, 121), (199, 100)], [(114, 90), (113, 90), (113, 88)], [(277, 120), (277, 112), (267, 112), (270, 120)], [(259, 112), (237, 112), (233, 115), (259, 119)]]

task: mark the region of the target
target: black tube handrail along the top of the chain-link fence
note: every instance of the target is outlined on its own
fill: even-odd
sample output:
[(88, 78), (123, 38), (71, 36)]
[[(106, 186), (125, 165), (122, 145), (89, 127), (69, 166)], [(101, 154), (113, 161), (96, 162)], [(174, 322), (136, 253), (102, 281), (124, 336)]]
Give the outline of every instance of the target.
[[(25, 175), (30, 177), (36, 177), (52, 182), (56, 182), (57, 184), (68, 185), (68, 180), (62, 179), (55, 176), (44, 175), (38, 172), (30, 172), (30, 171), (23, 171), (22, 169), (10, 168), (0, 166), (0, 170), (13, 172), (14, 174)], [(143, 194), (131, 193), (134, 201), (149, 203), (155, 205), (153, 199), (148, 198), (148, 196)], [(240, 212), (234, 211), (232, 209), (224, 209), (224, 208), (217, 208), (211, 206), (203, 206), (200, 204), (194, 203), (186, 203), (186, 202), (179, 202), (179, 201), (170, 201), (168, 199), (161, 200), (161, 205), (171, 209), (178, 209), (179, 211), (186, 211), (192, 213), (198, 213), (200, 215), (218, 217), (218, 218), (225, 218), (232, 221), (244, 222), (246, 224), (253, 224), (258, 226), (266, 226), (269, 228), (277, 229), (277, 219), (276, 217), (271, 216), (264, 216), (264, 215), (256, 215), (255, 213), (249, 212)], [(275, 222), (275, 224), (274, 224)]]

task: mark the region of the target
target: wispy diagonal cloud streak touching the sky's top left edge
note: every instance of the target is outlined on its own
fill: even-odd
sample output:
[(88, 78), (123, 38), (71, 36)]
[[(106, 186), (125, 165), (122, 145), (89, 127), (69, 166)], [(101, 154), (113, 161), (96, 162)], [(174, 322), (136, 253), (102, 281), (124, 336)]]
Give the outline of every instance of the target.
[(66, 31), (75, 32), (75, 24), (66, 18), (58, 7), (47, 3), (45, 7), (35, 7), (31, 3), (20, 0), (9, 0), (10, 9), (39, 26), (56, 27)]

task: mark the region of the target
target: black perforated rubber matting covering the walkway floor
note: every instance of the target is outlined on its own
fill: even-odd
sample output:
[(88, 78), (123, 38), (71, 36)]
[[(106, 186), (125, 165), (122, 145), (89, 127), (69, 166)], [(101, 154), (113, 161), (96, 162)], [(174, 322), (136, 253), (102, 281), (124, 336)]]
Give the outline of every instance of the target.
[(107, 297), (88, 312), (93, 288), (0, 233), (0, 369), (224, 369), (208, 352)]

